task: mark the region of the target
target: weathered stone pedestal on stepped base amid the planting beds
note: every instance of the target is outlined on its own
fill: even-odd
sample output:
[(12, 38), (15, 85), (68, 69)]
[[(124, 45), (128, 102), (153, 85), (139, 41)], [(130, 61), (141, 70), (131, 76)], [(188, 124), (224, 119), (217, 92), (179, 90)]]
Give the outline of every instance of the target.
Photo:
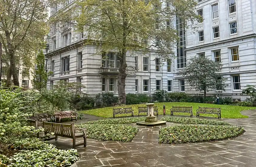
[(137, 125), (140, 126), (160, 126), (165, 125), (166, 121), (157, 120), (157, 118), (154, 116), (154, 103), (147, 103), (148, 106), (148, 115), (145, 119), (145, 121), (137, 122)]

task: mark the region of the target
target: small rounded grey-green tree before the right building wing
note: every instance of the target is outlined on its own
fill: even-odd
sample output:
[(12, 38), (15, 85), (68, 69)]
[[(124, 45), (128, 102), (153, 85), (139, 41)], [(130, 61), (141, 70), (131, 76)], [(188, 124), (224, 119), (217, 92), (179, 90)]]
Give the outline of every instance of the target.
[(191, 88), (196, 89), (196, 91), (204, 91), (206, 96), (206, 92), (209, 90), (216, 90), (216, 88), (225, 90), (225, 87), (228, 86), (225, 84), (227, 78), (219, 74), (221, 68), (222, 64), (219, 62), (203, 56), (195, 56), (190, 59), (187, 68), (182, 73)]

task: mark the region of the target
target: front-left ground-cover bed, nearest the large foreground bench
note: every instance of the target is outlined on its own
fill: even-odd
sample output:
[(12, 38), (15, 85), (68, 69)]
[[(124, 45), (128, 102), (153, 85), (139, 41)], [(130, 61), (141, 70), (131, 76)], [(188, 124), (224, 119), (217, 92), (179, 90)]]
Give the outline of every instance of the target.
[[(93, 121), (98, 122), (98, 121)], [(87, 128), (87, 137), (104, 141), (131, 142), (139, 131), (136, 127), (113, 124), (87, 124), (75, 125), (78, 128)]]

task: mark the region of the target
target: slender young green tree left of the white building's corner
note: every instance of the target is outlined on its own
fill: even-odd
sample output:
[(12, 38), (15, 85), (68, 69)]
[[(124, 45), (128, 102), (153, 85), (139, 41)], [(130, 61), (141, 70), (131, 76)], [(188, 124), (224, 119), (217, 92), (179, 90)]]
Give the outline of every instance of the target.
[(52, 74), (52, 72), (47, 73), (45, 70), (45, 57), (42, 50), (37, 54), (36, 64), (33, 84), (35, 89), (41, 91), (42, 88), (46, 88), (48, 76)]

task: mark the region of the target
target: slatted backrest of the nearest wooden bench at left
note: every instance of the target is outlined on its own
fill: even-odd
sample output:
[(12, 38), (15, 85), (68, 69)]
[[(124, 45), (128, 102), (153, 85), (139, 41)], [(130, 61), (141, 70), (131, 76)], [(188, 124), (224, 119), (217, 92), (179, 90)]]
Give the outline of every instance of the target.
[(44, 122), (45, 132), (54, 132), (55, 135), (62, 137), (73, 137), (75, 134), (74, 123), (63, 124), (63, 123), (50, 123)]

